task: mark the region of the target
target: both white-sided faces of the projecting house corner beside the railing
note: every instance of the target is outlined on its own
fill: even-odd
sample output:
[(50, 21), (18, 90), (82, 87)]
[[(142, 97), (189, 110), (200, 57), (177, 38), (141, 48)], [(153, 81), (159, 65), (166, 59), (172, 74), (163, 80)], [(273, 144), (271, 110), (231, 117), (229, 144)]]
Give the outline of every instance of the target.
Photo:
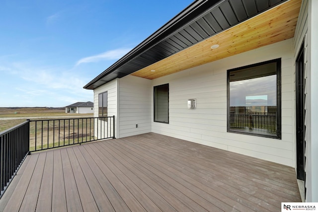
[(98, 117), (98, 94), (105, 91), (107, 114), (115, 116), (116, 138), (151, 132), (151, 80), (128, 75), (94, 89), (94, 117)]

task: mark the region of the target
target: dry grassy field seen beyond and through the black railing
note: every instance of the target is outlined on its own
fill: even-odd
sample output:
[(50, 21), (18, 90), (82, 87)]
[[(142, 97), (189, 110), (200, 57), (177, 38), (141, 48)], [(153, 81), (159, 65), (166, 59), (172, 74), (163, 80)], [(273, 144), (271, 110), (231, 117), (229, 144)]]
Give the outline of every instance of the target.
[(66, 114), (64, 108), (0, 108), (0, 132), (25, 122), (28, 117), (32, 121), (30, 122), (30, 151), (35, 147), (46, 149), (94, 140), (94, 120), (80, 119), (83, 116), (93, 117), (93, 114)]

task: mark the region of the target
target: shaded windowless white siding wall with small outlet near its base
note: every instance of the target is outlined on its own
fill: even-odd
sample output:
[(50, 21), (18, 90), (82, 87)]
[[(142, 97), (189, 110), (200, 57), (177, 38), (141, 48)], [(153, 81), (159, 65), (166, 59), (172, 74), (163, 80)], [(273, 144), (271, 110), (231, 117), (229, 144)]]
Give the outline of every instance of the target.
[(151, 80), (131, 75), (119, 80), (118, 138), (151, 132)]

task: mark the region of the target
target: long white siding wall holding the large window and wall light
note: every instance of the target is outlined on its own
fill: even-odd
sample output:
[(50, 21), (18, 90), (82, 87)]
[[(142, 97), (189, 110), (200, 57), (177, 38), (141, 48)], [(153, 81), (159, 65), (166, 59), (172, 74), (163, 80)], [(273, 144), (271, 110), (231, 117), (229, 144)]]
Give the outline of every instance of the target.
[[(169, 124), (152, 132), (295, 166), (292, 39), (154, 79), (169, 83)], [(227, 70), (282, 58), (282, 140), (227, 133)], [(196, 98), (196, 109), (187, 99)], [(153, 99), (153, 94), (152, 98)], [(153, 101), (152, 101), (153, 114)]]

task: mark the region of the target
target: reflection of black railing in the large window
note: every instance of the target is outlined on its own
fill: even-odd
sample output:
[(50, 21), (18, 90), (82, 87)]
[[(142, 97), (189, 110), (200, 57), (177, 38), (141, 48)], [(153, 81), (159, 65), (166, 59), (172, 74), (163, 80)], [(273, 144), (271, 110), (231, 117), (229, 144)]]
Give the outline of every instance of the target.
[(231, 128), (263, 129), (268, 133), (276, 133), (276, 115), (230, 114)]

